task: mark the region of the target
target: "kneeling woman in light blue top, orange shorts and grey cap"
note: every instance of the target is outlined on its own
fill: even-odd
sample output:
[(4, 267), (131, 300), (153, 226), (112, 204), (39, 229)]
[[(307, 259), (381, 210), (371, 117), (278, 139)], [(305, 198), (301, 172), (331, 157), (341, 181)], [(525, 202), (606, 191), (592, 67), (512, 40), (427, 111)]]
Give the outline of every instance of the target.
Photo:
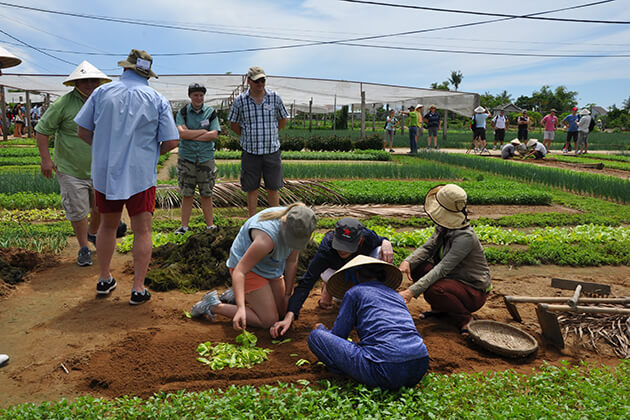
[(316, 226), (315, 213), (303, 203), (272, 207), (250, 217), (236, 235), (226, 262), (236, 305), (222, 303), (213, 290), (192, 307), (192, 316), (208, 314), (214, 319), (221, 314), (232, 318), (236, 330), (270, 328), (286, 312), (300, 250), (306, 248)]

